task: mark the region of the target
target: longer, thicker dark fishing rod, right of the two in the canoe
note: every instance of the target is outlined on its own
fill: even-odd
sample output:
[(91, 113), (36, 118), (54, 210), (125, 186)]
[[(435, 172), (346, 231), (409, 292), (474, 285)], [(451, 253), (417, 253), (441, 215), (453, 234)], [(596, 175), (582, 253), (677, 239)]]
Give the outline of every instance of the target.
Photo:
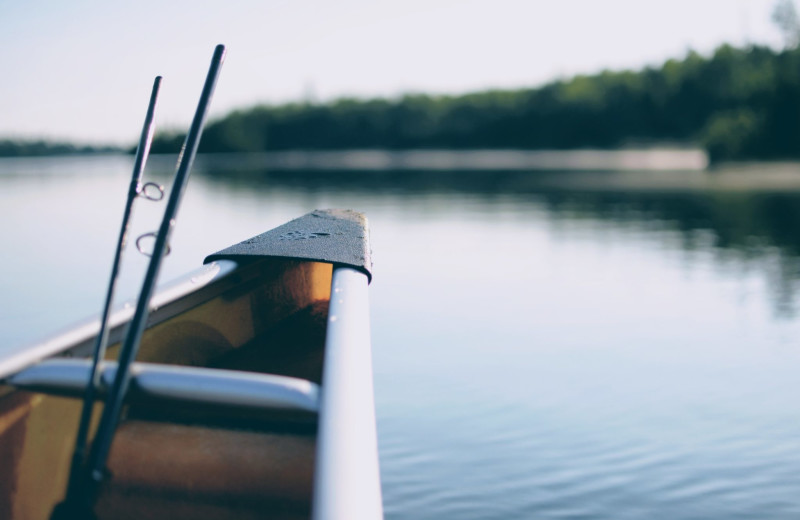
[(167, 243), (169, 242), (169, 237), (175, 225), (175, 218), (183, 192), (186, 188), (186, 181), (188, 180), (192, 163), (197, 154), (197, 147), (200, 143), (203, 124), (208, 114), (208, 107), (211, 103), (211, 97), (214, 93), (214, 87), (216, 86), (224, 58), (225, 46), (217, 45), (214, 49), (214, 55), (211, 59), (211, 65), (203, 85), (197, 110), (195, 111), (192, 124), (189, 127), (189, 132), (186, 135), (186, 141), (184, 142), (183, 149), (178, 158), (172, 191), (170, 192), (167, 207), (164, 210), (164, 217), (161, 220), (161, 225), (156, 235), (156, 242), (153, 246), (153, 252), (150, 257), (150, 263), (147, 266), (144, 281), (142, 282), (141, 292), (139, 293), (139, 299), (136, 303), (136, 310), (133, 319), (128, 325), (125, 340), (122, 344), (122, 350), (119, 354), (114, 382), (106, 398), (105, 405), (103, 406), (100, 424), (89, 452), (86, 474), (83, 475), (84, 479), (86, 479), (85, 486), (83, 486), (82, 489), (84, 504), (89, 510), (107, 473), (106, 460), (108, 459), (108, 453), (111, 449), (114, 432), (119, 424), (125, 394), (130, 386), (131, 364), (139, 351), (139, 344), (150, 311), (150, 298), (155, 289), (161, 261), (165, 255)]

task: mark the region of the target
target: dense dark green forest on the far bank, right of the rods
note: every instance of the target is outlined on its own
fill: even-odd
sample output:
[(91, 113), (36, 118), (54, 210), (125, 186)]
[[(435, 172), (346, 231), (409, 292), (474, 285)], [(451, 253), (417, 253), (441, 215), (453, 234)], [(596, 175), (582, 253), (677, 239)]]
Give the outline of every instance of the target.
[[(728, 45), (658, 68), (540, 88), (258, 106), (211, 123), (205, 152), (342, 148), (704, 146), (713, 159), (800, 157), (800, 51)], [(161, 136), (174, 151), (180, 136)]]

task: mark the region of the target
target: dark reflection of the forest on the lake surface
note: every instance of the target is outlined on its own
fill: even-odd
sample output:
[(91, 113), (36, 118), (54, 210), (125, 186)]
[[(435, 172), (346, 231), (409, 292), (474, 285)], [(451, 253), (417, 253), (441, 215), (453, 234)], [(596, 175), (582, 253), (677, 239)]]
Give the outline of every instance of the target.
[[(289, 191), (297, 195), (348, 194), (371, 200), (418, 202), (434, 200), (427, 211), (447, 212), (443, 201), (457, 199), (492, 213), (544, 211), (553, 226), (603, 222), (617, 232), (635, 229), (649, 238), (680, 233), (688, 253), (712, 252), (720, 266), (742, 272), (758, 269), (770, 288), (774, 315), (797, 315), (800, 280), (800, 190), (698, 190), (692, 179), (705, 172), (667, 172), (682, 176), (683, 190), (661, 189), (663, 172), (642, 171), (620, 181), (617, 172), (566, 171), (408, 171), (408, 170), (267, 170), (210, 169), (200, 162), (200, 175), (221, 191), (268, 195)], [(800, 168), (796, 173), (800, 173)], [(725, 179), (725, 172), (712, 174)], [(758, 168), (750, 171), (758, 186)], [(647, 177), (653, 182), (648, 184)], [(588, 179), (591, 179), (588, 181)], [(609, 182), (604, 182), (604, 179)], [(795, 186), (800, 178), (790, 177)], [(724, 186), (724, 183), (723, 183)], [(800, 186), (798, 186), (800, 187)], [(661, 232), (661, 233), (657, 233)], [(672, 246), (672, 244), (670, 244)]]

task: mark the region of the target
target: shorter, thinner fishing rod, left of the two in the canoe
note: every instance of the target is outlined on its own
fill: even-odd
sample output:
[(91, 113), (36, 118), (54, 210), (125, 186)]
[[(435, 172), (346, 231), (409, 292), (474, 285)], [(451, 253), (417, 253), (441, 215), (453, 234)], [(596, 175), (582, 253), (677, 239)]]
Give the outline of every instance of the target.
[[(92, 409), (98, 387), (100, 386), (100, 370), (98, 370), (98, 368), (101, 361), (105, 357), (106, 347), (108, 346), (108, 322), (111, 314), (111, 304), (114, 300), (114, 292), (116, 291), (117, 287), (119, 270), (122, 265), (122, 252), (125, 250), (125, 244), (128, 238), (128, 228), (130, 225), (131, 216), (133, 215), (133, 203), (138, 197), (153, 201), (161, 200), (164, 197), (164, 189), (158, 184), (153, 182), (142, 184), (144, 166), (147, 163), (147, 157), (150, 154), (150, 145), (153, 142), (153, 132), (155, 130), (154, 115), (160, 88), (161, 76), (156, 76), (155, 81), (153, 81), (152, 92), (150, 93), (150, 103), (147, 106), (147, 114), (144, 118), (144, 125), (142, 126), (142, 134), (139, 137), (139, 145), (136, 148), (136, 157), (133, 162), (133, 175), (131, 176), (131, 183), (128, 187), (125, 210), (122, 213), (122, 226), (120, 226), (119, 237), (117, 238), (117, 247), (114, 250), (114, 262), (111, 267), (111, 276), (108, 281), (105, 302), (103, 304), (103, 311), (100, 318), (100, 331), (97, 333), (97, 338), (95, 340), (92, 354), (92, 365), (91, 370), (89, 371), (89, 380), (86, 384), (86, 391), (83, 395), (83, 407), (81, 408), (81, 417), (78, 423), (78, 433), (75, 436), (75, 447), (72, 451), (72, 462), (70, 466), (69, 480), (67, 481), (66, 497), (64, 498), (64, 502), (62, 502), (63, 505), (57, 505), (56, 509), (59, 507), (67, 507), (66, 504), (71, 502), (72, 497), (77, 491), (76, 485), (80, 481), (79, 474), (81, 468), (83, 467), (84, 459), (86, 458), (86, 441), (89, 436), (89, 426), (92, 420)], [(154, 192), (153, 189), (156, 191)], [(158, 195), (156, 195), (156, 193)]]

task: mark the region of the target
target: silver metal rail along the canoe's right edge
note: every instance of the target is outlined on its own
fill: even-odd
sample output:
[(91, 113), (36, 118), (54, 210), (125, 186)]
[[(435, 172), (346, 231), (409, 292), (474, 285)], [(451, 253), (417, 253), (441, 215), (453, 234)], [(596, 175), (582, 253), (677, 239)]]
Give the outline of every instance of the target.
[(333, 271), (313, 520), (383, 518), (368, 284), (369, 278), (359, 270), (339, 267)]

